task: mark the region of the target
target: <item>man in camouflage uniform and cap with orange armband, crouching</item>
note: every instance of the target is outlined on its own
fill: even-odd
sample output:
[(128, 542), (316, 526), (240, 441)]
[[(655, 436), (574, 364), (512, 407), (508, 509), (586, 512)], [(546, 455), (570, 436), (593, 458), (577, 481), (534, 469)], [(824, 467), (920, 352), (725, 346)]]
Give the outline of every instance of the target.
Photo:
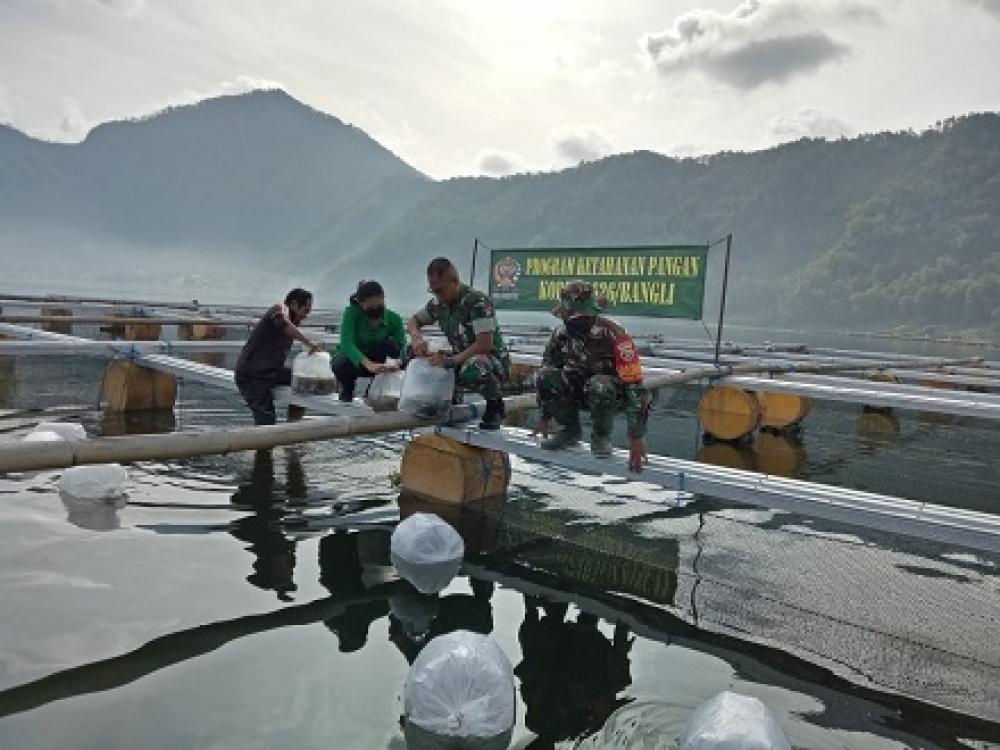
[(610, 456), (615, 413), (624, 410), (631, 443), (629, 466), (638, 472), (646, 456), (650, 395), (642, 384), (635, 342), (600, 312), (591, 284), (571, 281), (562, 290), (553, 313), (563, 325), (552, 332), (536, 376), (542, 410), (538, 431), (548, 435), (548, 421), (555, 417), (559, 430), (543, 440), (542, 447), (560, 450), (575, 445), (583, 435), (580, 408), (587, 408), (593, 429), (590, 449), (597, 456)]

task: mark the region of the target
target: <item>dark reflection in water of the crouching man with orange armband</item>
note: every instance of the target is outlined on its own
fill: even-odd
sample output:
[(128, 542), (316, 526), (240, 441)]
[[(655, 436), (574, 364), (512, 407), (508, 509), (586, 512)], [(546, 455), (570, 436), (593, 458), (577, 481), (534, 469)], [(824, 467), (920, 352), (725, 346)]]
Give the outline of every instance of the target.
[(587, 737), (631, 700), (619, 697), (632, 684), (635, 638), (628, 628), (617, 623), (608, 638), (596, 616), (579, 612), (572, 620), (567, 611), (565, 603), (525, 597), (518, 631), (523, 658), (514, 674), (521, 680), (525, 725), (538, 735), (529, 748)]

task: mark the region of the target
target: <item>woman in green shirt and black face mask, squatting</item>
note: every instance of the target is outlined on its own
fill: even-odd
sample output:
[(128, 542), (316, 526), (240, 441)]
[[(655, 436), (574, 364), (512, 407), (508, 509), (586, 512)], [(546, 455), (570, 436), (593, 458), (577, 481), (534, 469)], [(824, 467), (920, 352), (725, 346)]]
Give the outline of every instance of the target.
[(340, 382), (340, 400), (354, 399), (358, 378), (370, 378), (399, 359), (406, 348), (403, 319), (386, 309), (385, 292), (377, 281), (362, 281), (340, 321), (340, 350), (330, 366)]

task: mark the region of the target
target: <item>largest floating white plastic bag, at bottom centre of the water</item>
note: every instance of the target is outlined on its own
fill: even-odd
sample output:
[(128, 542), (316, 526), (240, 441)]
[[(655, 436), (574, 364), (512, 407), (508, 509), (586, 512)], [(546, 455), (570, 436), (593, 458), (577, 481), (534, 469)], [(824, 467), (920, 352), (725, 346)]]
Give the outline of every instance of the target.
[(479, 633), (438, 636), (410, 667), (403, 710), (407, 747), (506, 748), (514, 726), (510, 660)]

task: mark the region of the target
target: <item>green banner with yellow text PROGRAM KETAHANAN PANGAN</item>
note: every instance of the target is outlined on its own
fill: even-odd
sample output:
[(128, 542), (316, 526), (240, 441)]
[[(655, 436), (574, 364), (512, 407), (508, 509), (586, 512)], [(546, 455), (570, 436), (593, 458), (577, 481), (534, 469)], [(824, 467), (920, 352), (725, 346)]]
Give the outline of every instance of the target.
[(551, 312), (566, 282), (594, 284), (612, 315), (700, 320), (707, 245), (501, 248), (490, 251), (500, 310)]

